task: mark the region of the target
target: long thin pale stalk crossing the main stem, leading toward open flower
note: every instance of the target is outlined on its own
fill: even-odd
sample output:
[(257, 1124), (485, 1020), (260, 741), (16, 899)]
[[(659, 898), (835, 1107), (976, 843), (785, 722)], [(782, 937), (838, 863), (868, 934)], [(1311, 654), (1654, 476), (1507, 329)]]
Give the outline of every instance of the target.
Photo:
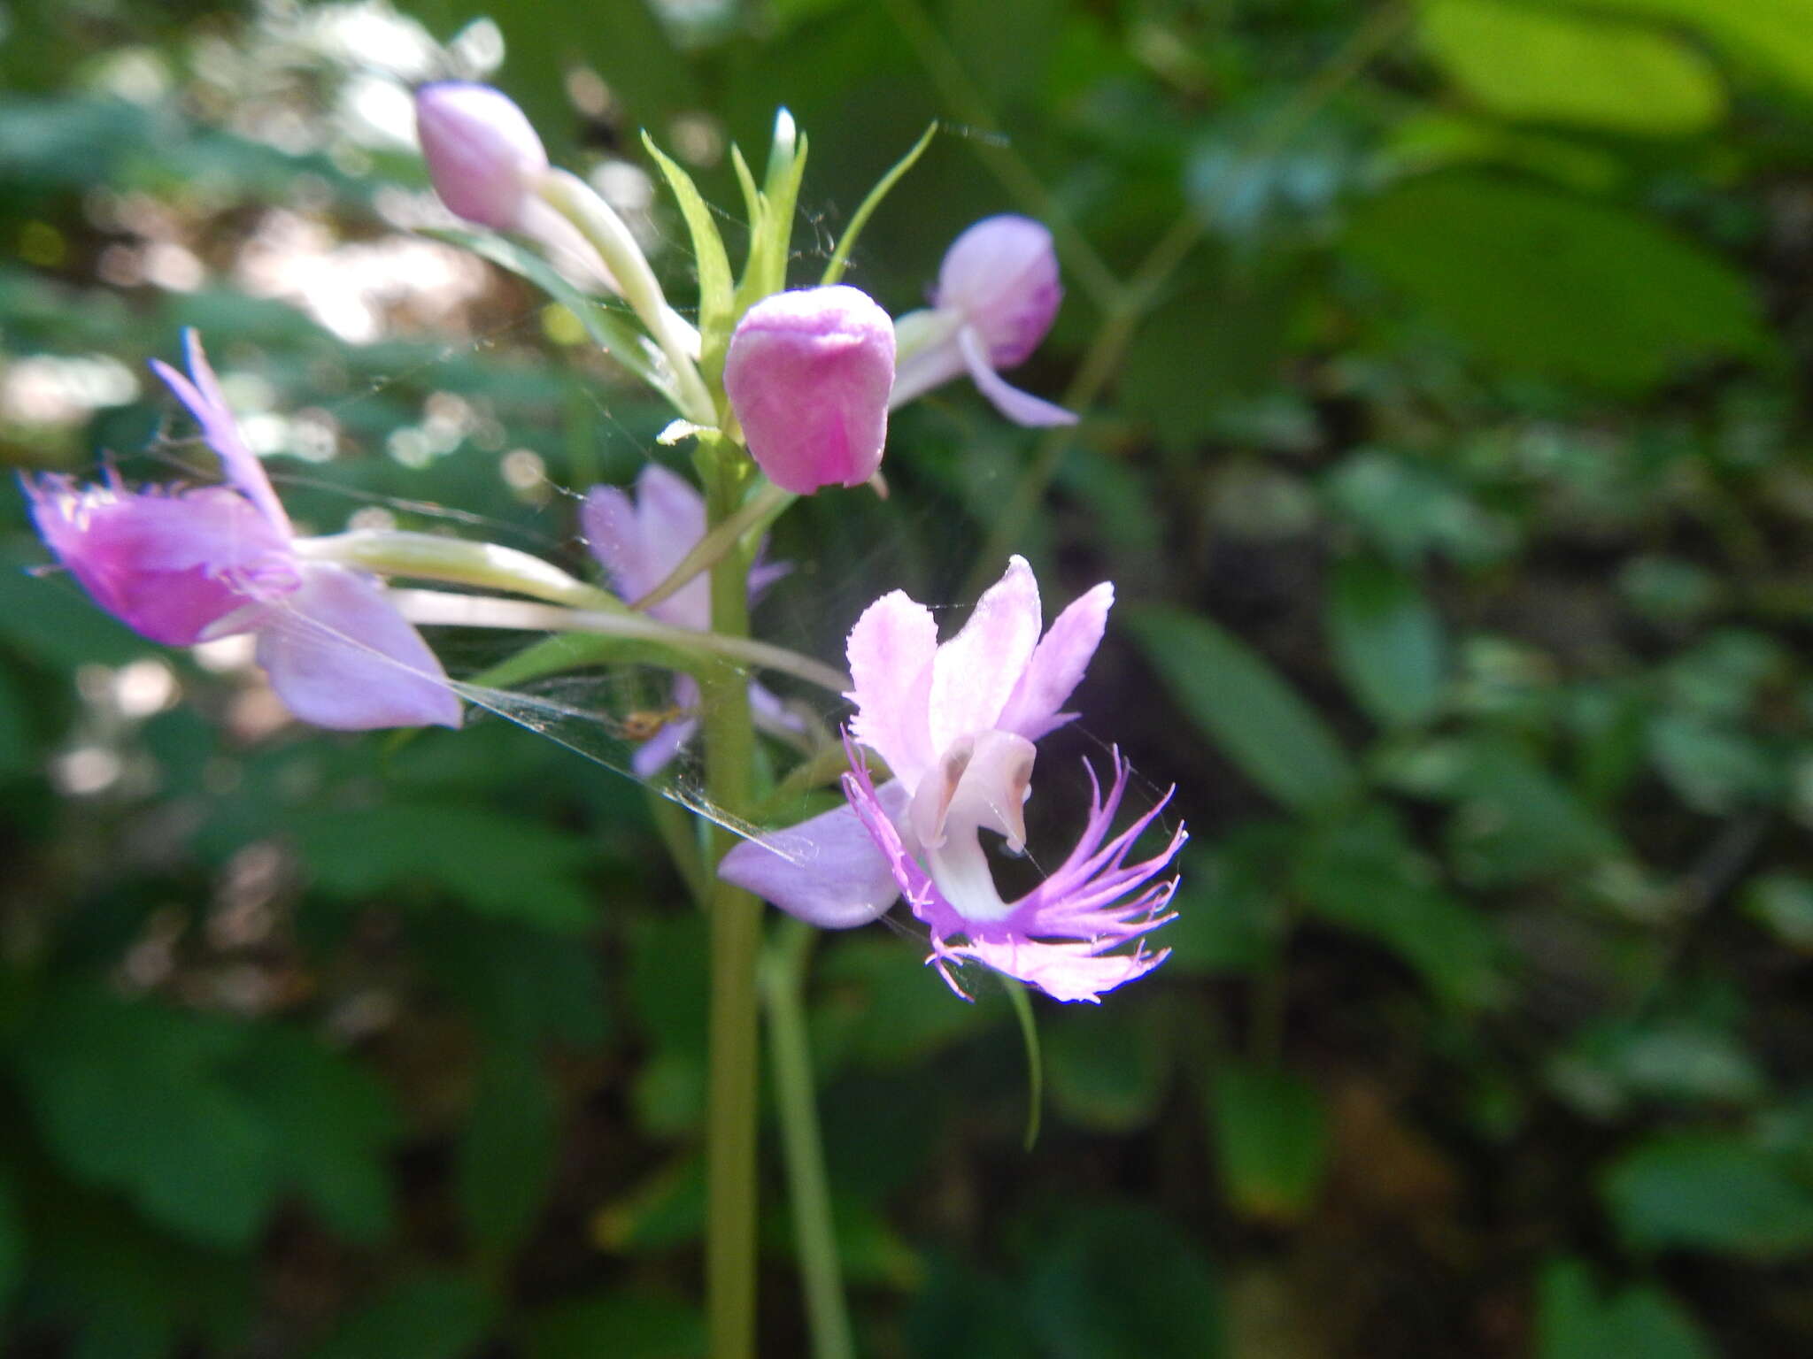
[[(734, 569), (736, 558), (729, 560)], [(776, 647), (767, 641), (756, 641), (749, 636), (694, 632), (685, 627), (669, 627), (667, 623), (658, 623), (645, 614), (607, 614), (593, 609), (555, 609), (546, 603), (500, 600), (490, 594), (451, 594), (448, 591), (390, 591), (390, 600), (412, 623), (506, 627), (519, 632), (596, 632), (611, 638), (654, 641), (674, 652), (700, 658), (702, 663), (694, 669), (694, 672), (700, 674), (702, 680), (705, 678), (705, 670), (732, 669), (705, 663), (716, 658), (738, 665), (754, 665), (763, 670), (790, 674), (796, 680), (805, 680), (809, 685), (829, 689), (834, 694), (843, 694), (850, 689), (850, 676), (825, 665), (823, 661), (814, 661), (810, 656), (801, 656), (796, 651), (787, 651), (785, 647)], [(747, 605), (743, 612), (747, 620)], [(742, 627), (747, 629), (747, 622), (743, 622)], [(711, 705), (707, 703), (705, 707), (709, 716)]]

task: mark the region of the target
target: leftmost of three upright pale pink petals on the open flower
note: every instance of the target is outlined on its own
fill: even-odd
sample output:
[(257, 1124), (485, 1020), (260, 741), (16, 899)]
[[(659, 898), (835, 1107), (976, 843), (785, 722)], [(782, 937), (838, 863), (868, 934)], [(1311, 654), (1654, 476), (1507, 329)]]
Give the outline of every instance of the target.
[(916, 785), (934, 759), (925, 698), (937, 654), (932, 611), (905, 591), (883, 594), (856, 620), (845, 654), (854, 680), (845, 698), (856, 705), (850, 732)]

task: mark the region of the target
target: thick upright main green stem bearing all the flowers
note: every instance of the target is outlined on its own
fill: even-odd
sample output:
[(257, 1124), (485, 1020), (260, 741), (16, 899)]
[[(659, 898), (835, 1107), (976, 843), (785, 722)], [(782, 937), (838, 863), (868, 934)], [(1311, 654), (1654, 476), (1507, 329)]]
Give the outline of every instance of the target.
[[(703, 458), (705, 515), (714, 527), (736, 513), (742, 458)], [(732, 551), (711, 569), (711, 627), (722, 638), (749, 636), (749, 556)], [(734, 667), (698, 676), (705, 705), (705, 795), (732, 815), (752, 805), (756, 728), (749, 683)], [(711, 826), (707, 863), (736, 844)], [(705, 1085), (705, 1321), (713, 1359), (751, 1359), (756, 1352), (756, 1073), (760, 1013), (756, 962), (761, 902), (716, 881), (711, 890), (711, 1051)]]

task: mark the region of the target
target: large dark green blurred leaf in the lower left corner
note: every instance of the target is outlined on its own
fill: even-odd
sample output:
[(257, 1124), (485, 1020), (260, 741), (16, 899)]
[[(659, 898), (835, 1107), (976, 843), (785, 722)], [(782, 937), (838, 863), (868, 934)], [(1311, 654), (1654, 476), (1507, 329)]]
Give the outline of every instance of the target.
[(227, 1078), (245, 1029), (69, 988), (33, 1017), (20, 1075), (45, 1143), (179, 1236), (248, 1247), (277, 1194), (274, 1134)]

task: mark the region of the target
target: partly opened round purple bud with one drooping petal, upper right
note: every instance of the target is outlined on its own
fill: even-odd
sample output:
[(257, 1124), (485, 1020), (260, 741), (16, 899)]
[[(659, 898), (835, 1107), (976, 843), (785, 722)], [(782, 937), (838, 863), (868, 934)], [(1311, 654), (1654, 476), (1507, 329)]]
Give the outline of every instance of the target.
[(1039, 348), (1062, 299), (1052, 232), (1032, 217), (983, 217), (945, 252), (930, 310), (894, 323), (899, 368), (888, 404), (905, 406), (968, 373), (1015, 424), (1075, 424), (1071, 411), (1021, 391), (999, 371)]

